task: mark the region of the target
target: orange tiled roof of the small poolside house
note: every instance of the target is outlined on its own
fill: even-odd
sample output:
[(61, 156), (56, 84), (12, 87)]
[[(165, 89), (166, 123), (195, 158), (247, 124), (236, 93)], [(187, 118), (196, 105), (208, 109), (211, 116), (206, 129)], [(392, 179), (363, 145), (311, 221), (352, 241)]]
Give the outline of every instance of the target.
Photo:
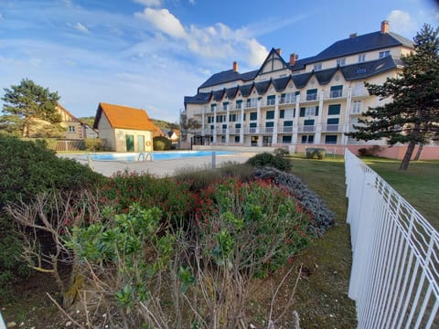
[(128, 106), (99, 103), (98, 112), (102, 109), (112, 128), (145, 130), (154, 132), (155, 124), (149, 119), (145, 110)]

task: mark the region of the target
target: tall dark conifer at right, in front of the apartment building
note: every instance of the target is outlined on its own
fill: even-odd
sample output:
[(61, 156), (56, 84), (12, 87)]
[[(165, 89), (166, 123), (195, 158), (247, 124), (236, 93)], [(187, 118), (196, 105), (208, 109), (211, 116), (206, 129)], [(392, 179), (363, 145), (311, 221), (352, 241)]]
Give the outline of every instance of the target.
[(347, 133), (358, 140), (387, 138), (387, 143), (408, 143), (401, 170), (410, 164), (414, 146), (439, 134), (439, 28), (424, 25), (413, 38), (415, 52), (403, 56), (404, 67), (397, 78), (384, 84), (366, 83), (370, 95), (391, 102), (363, 112), (358, 132)]

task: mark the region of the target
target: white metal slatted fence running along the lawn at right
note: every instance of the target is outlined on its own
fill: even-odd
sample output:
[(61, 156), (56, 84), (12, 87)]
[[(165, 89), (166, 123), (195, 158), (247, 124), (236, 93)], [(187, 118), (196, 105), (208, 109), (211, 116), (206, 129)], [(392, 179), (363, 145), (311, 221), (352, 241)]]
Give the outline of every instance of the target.
[(438, 232), (348, 150), (345, 166), (358, 328), (439, 328)]

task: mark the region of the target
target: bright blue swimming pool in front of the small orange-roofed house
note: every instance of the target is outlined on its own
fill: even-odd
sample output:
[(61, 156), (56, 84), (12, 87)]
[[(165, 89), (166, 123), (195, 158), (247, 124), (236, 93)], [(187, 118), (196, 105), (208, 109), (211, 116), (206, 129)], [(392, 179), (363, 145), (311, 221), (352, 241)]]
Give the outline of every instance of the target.
[[(211, 156), (212, 152), (216, 155), (231, 155), (237, 154), (233, 151), (171, 151), (171, 152), (152, 152), (153, 161), (160, 160), (173, 160), (189, 157), (198, 156)], [(88, 155), (81, 157), (83, 160), (88, 158)], [(113, 154), (91, 154), (91, 160), (97, 161), (123, 161), (123, 162), (134, 162), (134, 161), (145, 161), (147, 159), (147, 154), (139, 153), (113, 153)]]

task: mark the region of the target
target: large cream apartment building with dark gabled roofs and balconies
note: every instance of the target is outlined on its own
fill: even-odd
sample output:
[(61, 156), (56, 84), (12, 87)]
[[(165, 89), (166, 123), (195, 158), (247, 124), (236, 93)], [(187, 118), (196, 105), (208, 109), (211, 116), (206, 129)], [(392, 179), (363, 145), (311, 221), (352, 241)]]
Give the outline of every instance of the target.
[(248, 146), (364, 143), (345, 135), (362, 111), (380, 104), (364, 82), (397, 77), (402, 55), (413, 50), (383, 21), (380, 31), (352, 34), (311, 58), (291, 54), (285, 61), (273, 48), (260, 69), (240, 73), (233, 62), (185, 97), (182, 120), (199, 125), (187, 138)]

